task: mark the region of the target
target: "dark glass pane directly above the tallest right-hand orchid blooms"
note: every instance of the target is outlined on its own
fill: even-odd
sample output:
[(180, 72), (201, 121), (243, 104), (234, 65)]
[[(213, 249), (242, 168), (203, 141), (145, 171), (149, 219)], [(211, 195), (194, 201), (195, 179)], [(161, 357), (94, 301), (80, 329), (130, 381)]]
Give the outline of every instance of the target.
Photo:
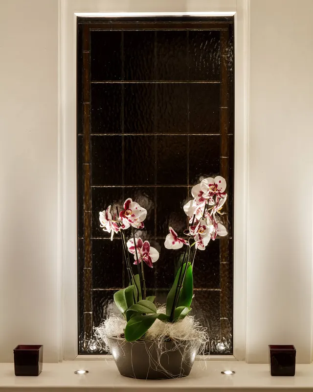
[[(197, 184), (220, 172), (220, 136), (190, 136), (189, 181)], [(202, 177), (202, 178), (201, 178)]]

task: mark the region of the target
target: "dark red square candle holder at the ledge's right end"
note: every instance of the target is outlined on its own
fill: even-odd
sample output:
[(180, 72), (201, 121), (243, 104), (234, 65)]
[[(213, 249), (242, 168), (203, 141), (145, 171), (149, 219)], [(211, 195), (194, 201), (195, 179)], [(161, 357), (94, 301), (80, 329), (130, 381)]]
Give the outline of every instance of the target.
[(272, 376), (295, 375), (295, 353), (293, 345), (269, 345), (269, 366)]

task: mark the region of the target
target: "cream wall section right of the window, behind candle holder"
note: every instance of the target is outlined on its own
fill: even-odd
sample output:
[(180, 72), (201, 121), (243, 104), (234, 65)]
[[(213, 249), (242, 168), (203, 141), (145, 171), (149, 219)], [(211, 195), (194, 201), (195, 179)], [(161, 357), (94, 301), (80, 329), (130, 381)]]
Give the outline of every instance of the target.
[(247, 359), (311, 355), (313, 1), (250, 4)]

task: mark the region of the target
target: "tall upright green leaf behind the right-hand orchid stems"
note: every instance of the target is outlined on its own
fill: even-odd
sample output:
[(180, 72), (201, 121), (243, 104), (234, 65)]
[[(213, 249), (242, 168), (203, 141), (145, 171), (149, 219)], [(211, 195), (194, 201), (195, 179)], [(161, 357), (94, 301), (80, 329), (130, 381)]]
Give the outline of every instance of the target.
[[(184, 265), (182, 266), (182, 269), (183, 269), (182, 273), (184, 272), (185, 267), (186, 267), (186, 263), (184, 263)], [(172, 307), (173, 307), (173, 303), (174, 303), (174, 297), (175, 297), (175, 293), (176, 293), (176, 288), (178, 285), (179, 273), (180, 273), (180, 268), (176, 274), (176, 278), (173, 283), (173, 286), (172, 286), (172, 288), (166, 298), (166, 314), (167, 314), (167, 316), (171, 315), (171, 311), (172, 311)], [(181, 287), (181, 290), (179, 293), (179, 298), (178, 298), (176, 307), (184, 306), (184, 307), (189, 308), (189, 306), (191, 305), (191, 302), (192, 302), (192, 297), (193, 297), (192, 267), (191, 267), (191, 263), (188, 263), (186, 276), (185, 276), (185, 279), (183, 281), (183, 284), (182, 284), (182, 287)]]

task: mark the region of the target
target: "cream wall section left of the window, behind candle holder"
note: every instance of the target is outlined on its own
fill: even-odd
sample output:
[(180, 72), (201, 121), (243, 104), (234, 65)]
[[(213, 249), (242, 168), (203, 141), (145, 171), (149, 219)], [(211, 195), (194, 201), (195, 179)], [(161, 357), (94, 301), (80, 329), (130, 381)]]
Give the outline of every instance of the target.
[(0, 1), (0, 361), (58, 360), (58, 1)]

